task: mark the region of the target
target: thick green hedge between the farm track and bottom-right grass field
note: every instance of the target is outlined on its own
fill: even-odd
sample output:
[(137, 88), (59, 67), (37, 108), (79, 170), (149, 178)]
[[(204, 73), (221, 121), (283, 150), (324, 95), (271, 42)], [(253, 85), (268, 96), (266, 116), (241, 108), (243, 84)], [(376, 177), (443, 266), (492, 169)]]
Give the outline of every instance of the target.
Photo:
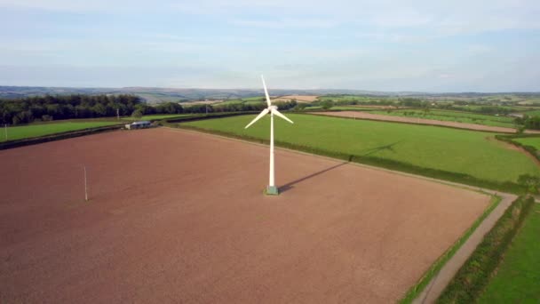
[(525, 196), (512, 203), (457, 271), (438, 303), (473, 303), (480, 297), (534, 204), (533, 197)]

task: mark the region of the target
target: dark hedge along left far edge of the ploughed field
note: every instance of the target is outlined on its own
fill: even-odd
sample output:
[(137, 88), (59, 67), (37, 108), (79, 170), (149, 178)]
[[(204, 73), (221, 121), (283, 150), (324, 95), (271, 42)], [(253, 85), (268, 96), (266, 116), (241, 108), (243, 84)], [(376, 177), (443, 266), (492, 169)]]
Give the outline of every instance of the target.
[(106, 126), (100, 126), (100, 127), (86, 128), (86, 129), (81, 129), (81, 130), (76, 130), (76, 131), (58, 132), (58, 133), (48, 134), (44, 136), (32, 137), (28, 139), (8, 140), (8, 141), (0, 142), (0, 150), (36, 145), (36, 144), (40, 144), (40, 143), (44, 143), (48, 141), (66, 140), (66, 139), (70, 139), (74, 137), (90, 135), (90, 134), (95, 134), (95, 133), (100, 133), (100, 132), (115, 131), (115, 130), (120, 130), (122, 126), (123, 124), (113, 124), (113, 125), (106, 125)]

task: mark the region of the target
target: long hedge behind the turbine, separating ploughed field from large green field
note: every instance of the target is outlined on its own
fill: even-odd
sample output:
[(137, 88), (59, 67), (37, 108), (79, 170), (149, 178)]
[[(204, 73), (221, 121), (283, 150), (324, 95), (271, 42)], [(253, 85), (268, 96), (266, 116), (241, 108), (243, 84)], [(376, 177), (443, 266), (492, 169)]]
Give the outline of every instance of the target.
[[(250, 137), (246, 135), (238, 135), (238, 134), (234, 134), (230, 132), (207, 130), (207, 129), (198, 128), (198, 127), (186, 125), (186, 124), (169, 123), (169, 124), (163, 124), (163, 125), (173, 127), (173, 128), (188, 129), (188, 130), (195, 130), (197, 132), (217, 134), (217, 135), (221, 135), (221, 136), (225, 136), (229, 138), (257, 142), (257, 143), (266, 144), (266, 145), (269, 144), (268, 140), (262, 140), (262, 139), (258, 139), (258, 138), (254, 138), (254, 137)], [(314, 148), (314, 147), (309, 147), (309, 146), (292, 144), (289, 142), (283, 142), (279, 140), (275, 140), (274, 144), (276, 147), (289, 148), (291, 150), (303, 151), (309, 154), (329, 156), (331, 158), (336, 158), (336, 159), (347, 161), (347, 162), (353, 162), (353, 163), (358, 163), (358, 164), (368, 164), (374, 167), (382, 167), (389, 170), (422, 175), (422, 176), (433, 178), (436, 180), (448, 180), (448, 181), (452, 181), (456, 183), (463, 183), (463, 184), (478, 187), (478, 188), (488, 188), (488, 189), (493, 189), (493, 190), (507, 192), (507, 193), (514, 193), (514, 194), (527, 193), (527, 188), (525, 186), (512, 182), (512, 181), (500, 182), (500, 181), (494, 181), (494, 180), (480, 180), (478, 178), (475, 178), (465, 173), (448, 172), (448, 171), (443, 171), (439, 169), (425, 168), (425, 167), (417, 166), (415, 164), (395, 161), (392, 159), (380, 158), (377, 156), (357, 156), (357, 155), (342, 153), (338, 151), (329, 151), (329, 150), (324, 150), (321, 148)]]

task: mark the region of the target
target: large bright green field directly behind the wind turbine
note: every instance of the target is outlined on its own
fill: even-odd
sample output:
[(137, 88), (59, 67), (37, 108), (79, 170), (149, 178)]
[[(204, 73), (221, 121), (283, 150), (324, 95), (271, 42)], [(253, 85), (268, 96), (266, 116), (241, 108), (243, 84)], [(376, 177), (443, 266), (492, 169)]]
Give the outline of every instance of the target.
[[(466, 173), (482, 180), (515, 181), (520, 174), (540, 175), (528, 156), (506, 148), (492, 133), (435, 126), (394, 124), (328, 116), (289, 114), (295, 124), (275, 119), (276, 141), (376, 156), (424, 168)], [(268, 139), (269, 118), (250, 129), (255, 116), (234, 116), (186, 123), (209, 131)]]

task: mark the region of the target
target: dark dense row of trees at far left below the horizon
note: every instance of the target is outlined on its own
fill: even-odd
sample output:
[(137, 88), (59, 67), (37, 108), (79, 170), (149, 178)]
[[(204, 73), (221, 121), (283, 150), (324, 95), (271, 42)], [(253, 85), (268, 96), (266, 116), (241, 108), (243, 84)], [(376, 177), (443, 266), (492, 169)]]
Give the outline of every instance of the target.
[(134, 95), (59, 95), (0, 100), (0, 124), (57, 119), (129, 116), (142, 102)]

